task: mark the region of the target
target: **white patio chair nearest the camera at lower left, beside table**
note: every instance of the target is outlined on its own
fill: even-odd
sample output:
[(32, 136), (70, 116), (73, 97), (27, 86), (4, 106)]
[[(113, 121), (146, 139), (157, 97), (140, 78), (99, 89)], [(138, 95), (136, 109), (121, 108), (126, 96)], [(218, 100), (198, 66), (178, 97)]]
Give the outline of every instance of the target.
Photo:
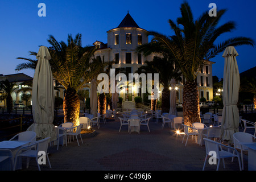
[[(39, 169), (39, 171), (41, 171), (40, 165), (38, 163), (38, 156), (40, 156), (38, 153), (39, 151), (43, 151), (45, 153), (46, 158), (49, 163), (49, 168), (52, 168), (51, 163), (49, 162), (48, 154), (47, 154), (49, 139), (50, 139), (50, 137), (42, 139), (42, 140), (38, 140), (38, 141), (30, 144), (29, 146), (24, 146), (24, 147), (19, 148), (19, 150), (16, 152), (16, 156), (15, 156), (14, 170), (16, 167), (17, 159), (19, 157), (26, 157), (26, 158), (35, 158), (36, 164), (38, 164), (38, 169)], [(34, 150), (32, 150), (32, 149), (34, 149)], [(28, 168), (28, 165), (29, 165), (29, 160), (27, 160), (27, 168)]]

